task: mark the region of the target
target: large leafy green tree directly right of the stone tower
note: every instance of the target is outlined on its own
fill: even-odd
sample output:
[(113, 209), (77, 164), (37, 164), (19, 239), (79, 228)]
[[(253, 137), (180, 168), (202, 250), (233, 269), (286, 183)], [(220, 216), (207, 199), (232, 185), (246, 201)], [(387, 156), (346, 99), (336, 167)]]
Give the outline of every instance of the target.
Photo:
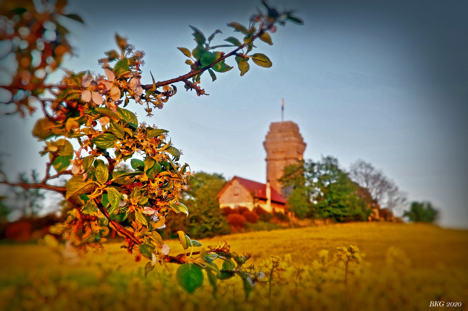
[(365, 220), (370, 213), (369, 204), (360, 195), (359, 186), (331, 156), (322, 157), (321, 162), (309, 160), (287, 166), (280, 181), (285, 187), (293, 187), (288, 205), (295, 213), (298, 210), (300, 215), (344, 222)]

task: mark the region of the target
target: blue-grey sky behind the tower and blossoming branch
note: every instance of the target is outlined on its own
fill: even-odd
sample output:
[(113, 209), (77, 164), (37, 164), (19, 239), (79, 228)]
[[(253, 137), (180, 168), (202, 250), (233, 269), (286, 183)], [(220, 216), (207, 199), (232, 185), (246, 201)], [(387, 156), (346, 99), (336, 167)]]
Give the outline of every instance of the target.
[[(265, 182), (263, 141), (271, 122), (299, 125), (307, 143), (305, 159), (335, 156), (344, 169), (363, 159), (395, 181), (409, 200), (427, 200), (441, 211), (439, 224), (468, 228), (468, 2), (453, 1), (270, 1), (292, 9), (305, 25), (288, 23), (271, 34), (273, 45), (256, 44), (273, 66), (250, 63), (240, 76), (234, 68), (211, 81), (209, 96), (179, 92), (162, 110), (139, 121), (169, 130), (181, 161), (192, 170)], [(227, 22), (248, 24), (260, 1), (69, 1), (68, 22), (79, 57), (66, 62), (75, 71), (103, 74), (97, 59), (116, 48), (114, 32), (146, 52), (158, 81), (189, 71), (176, 47), (195, 47), (188, 25), (213, 44), (241, 39)], [(224, 50), (229, 52), (228, 49)], [(60, 76), (61, 74), (58, 74)], [(2, 108), (2, 111), (6, 111)], [(44, 171), (42, 143), (30, 136), (39, 114), (25, 120), (0, 117), (0, 153), (11, 177)], [(15, 134), (12, 134), (15, 133)]]

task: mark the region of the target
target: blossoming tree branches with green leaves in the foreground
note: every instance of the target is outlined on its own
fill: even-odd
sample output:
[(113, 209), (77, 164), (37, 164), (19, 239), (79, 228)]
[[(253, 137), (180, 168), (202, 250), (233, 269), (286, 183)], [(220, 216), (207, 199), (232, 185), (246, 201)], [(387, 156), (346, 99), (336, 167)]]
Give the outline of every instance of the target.
[[(162, 109), (176, 95), (177, 82), (183, 82), (187, 90), (195, 90), (197, 96), (207, 95), (200, 87), (201, 75), (208, 71), (214, 81), (215, 72), (225, 73), (233, 68), (226, 63), (230, 57), (234, 57), (241, 75), (249, 71), (249, 60), (261, 67), (271, 67), (266, 55), (252, 53), (254, 42), (260, 39), (271, 45), (270, 33), (277, 30), (277, 24), (303, 22), (292, 12), (279, 12), (263, 4), (265, 12), (258, 10), (258, 14), (251, 15), (249, 27), (238, 22), (227, 24), (243, 35), (242, 41), (228, 37), (224, 41), (229, 44), (213, 46), (212, 40), (219, 30), (206, 38), (190, 26), (195, 48), (191, 51), (178, 48), (189, 58), (185, 63), (190, 69), (176, 78), (156, 81), (150, 71), (153, 82), (141, 84), (144, 53), (116, 33), (117, 50), (105, 52), (106, 57), (98, 60), (105, 75), (92, 74), (90, 70), (79, 73), (67, 70), (59, 83), (51, 84), (45, 82), (49, 74), (60, 67), (64, 55), (73, 54), (67, 41), (68, 30), (59, 21), (64, 16), (82, 20), (77, 15), (63, 15), (66, 0), (2, 3), (0, 39), (7, 52), (3, 51), (1, 61), (18, 65), (2, 73), (2, 78), (8, 81), (3, 89), (10, 95), (3, 102), (15, 105), (16, 112), (23, 117), (34, 113), (36, 104), (41, 107), (44, 118), (37, 120), (32, 134), (44, 141), (41, 156), (48, 156), (50, 161), (40, 182), (15, 183), (6, 178), (0, 182), (63, 194), (74, 209), (53, 232), (62, 234), (80, 251), (102, 248), (101, 242), (112, 228), (125, 238), (123, 247), (129, 253), (135, 252), (136, 261), (141, 257), (151, 260), (146, 264), (146, 274), (157, 262), (166, 267), (167, 263), (178, 264), (177, 280), (190, 294), (203, 283), (202, 269), (213, 293), (217, 278), (224, 280), (237, 274), (248, 298), (251, 282), (257, 280), (253, 266), (243, 267), (251, 256), (239, 256), (226, 241), (219, 241), (209, 250), (193, 252), (193, 247), (201, 244), (178, 231), (184, 252), (168, 255), (170, 249), (156, 229), (164, 228), (173, 213), (189, 214), (181, 198), (189, 189), (192, 173), (187, 163), (180, 162), (181, 150), (167, 141), (168, 130), (139, 123), (136, 115), (125, 107), (131, 108), (133, 101), (145, 102), (147, 115), (152, 116), (153, 108)], [(224, 52), (224, 48), (233, 50)], [(173, 122), (176, 125), (180, 120), (174, 116)], [(71, 140), (80, 145), (78, 150), (73, 150)], [(81, 156), (84, 152), (88, 156)], [(135, 153), (142, 154), (144, 160), (133, 158)], [(127, 160), (135, 171), (118, 169), (118, 164)], [(56, 174), (51, 175), (52, 167)], [(65, 187), (49, 183), (63, 175), (72, 176)], [(221, 272), (212, 264), (218, 258), (226, 259), (226, 264), (230, 262)]]

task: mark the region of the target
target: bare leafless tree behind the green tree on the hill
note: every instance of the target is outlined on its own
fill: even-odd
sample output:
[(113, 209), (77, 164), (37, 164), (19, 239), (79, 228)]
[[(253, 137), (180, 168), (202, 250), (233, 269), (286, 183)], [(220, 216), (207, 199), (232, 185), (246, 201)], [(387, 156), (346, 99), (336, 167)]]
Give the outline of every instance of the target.
[(369, 190), (381, 208), (394, 212), (406, 204), (406, 193), (401, 192), (393, 180), (388, 179), (381, 170), (376, 170), (371, 163), (361, 159), (352, 163), (349, 177)]

